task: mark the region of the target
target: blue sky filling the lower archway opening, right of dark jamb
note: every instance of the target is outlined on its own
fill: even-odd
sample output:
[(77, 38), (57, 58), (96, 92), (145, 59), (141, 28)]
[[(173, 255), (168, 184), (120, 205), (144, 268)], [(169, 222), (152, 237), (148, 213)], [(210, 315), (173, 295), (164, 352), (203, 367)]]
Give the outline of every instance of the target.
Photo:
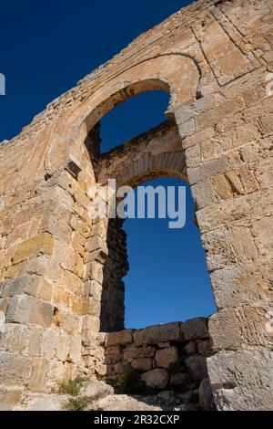
[[(140, 186), (163, 187), (166, 195), (167, 189), (174, 188), (176, 210), (184, 210), (178, 204), (177, 190), (185, 187), (186, 224), (170, 228), (172, 217), (159, 218), (158, 198), (154, 219), (126, 219), (129, 270), (124, 277), (125, 327), (139, 329), (209, 316), (216, 307), (188, 183), (161, 177)], [(137, 188), (134, 194), (137, 200)]]

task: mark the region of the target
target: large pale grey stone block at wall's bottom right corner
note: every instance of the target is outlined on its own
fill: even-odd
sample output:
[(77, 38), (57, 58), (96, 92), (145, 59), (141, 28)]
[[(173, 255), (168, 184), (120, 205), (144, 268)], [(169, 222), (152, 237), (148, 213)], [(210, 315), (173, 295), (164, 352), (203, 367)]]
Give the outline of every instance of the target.
[(226, 351), (207, 358), (217, 409), (272, 410), (272, 363), (273, 353), (266, 350)]

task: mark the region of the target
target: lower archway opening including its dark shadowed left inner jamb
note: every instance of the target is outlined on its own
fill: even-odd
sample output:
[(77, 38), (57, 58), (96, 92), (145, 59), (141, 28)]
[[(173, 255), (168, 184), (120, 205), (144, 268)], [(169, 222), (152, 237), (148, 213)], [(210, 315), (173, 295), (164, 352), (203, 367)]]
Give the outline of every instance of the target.
[[(155, 194), (154, 218), (148, 218), (147, 206), (144, 218), (137, 218), (138, 190), (147, 186), (161, 188), (168, 201), (172, 188), (175, 201), (173, 207), (167, 207), (166, 218), (160, 218), (162, 194)], [(178, 201), (179, 187), (185, 189), (185, 202)], [(214, 313), (216, 306), (189, 185), (174, 177), (160, 177), (138, 185), (129, 200), (132, 198), (135, 216), (125, 221), (111, 219), (108, 225), (101, 330), (139, 329)], [(174, 211), (178, 210), (180, 214), (185, 210), (185, 225), (170, 228)]]

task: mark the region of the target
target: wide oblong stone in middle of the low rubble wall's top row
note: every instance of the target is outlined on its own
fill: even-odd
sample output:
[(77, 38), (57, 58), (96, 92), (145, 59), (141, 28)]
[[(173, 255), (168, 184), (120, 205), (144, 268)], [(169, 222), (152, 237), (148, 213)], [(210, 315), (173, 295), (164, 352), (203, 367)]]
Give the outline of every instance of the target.
[(156, 325), (137, 330), (134, 334), (136, 346), (143, 344), (157, 344), (158, 342), (178, 341), (181, 338), (179, 323), (168, 323), (166, 325)]

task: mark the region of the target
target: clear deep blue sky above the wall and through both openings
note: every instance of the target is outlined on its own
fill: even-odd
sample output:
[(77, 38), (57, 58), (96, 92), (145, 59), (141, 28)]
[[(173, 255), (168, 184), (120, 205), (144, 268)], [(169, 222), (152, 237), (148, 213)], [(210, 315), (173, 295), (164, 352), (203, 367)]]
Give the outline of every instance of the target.
[[(0, 141), (15, 136), (52, 99), (76, 85), (135, 37), (157, 25), (183, 0), (10, 1), (1, 5)], [(168, 95), (151, 92), (126, 101), (102, 120), (103, 151), (165, 120)], [(180, 184), (158, 179), (156, 184)], [(187, 186), (187, 225), (126, 220), (130, 271), (126, 326), (141, 327), (215, 311), (194, 205)]]

